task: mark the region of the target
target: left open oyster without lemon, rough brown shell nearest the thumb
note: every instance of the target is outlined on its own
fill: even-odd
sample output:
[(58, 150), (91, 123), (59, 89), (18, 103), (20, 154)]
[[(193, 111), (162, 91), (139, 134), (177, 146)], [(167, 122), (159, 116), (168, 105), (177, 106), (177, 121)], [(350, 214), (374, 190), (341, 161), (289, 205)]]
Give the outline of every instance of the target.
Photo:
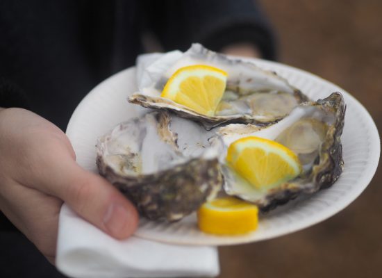
[(217, 152), (201, 143), (210, 135), (195, 132), (200, 136), (189, 140), (198, 127), (184, 121), (172, 120), (165, 111), (151, 112), (98, 140), (100, 174), (151, 220), (180, 220), (222, 187)]

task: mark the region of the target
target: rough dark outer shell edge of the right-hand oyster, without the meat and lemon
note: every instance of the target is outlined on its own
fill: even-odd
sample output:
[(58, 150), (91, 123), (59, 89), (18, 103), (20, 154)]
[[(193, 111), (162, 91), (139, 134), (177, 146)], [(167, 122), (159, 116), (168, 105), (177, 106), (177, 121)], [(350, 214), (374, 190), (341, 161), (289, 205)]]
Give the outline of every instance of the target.
[[(276, 188), (271, 188), (267, 190), (264, 194), (259, 193), (256, 195), (244, 194), (243, 190), (236, 188), (235, 177), (229, 168), (224, 167), (224, 188), (226, 193), (229, 195), (236, 195), (242, 199), (246, 199), (249, 202), (254, 202), (263, 211), (268, 211), (269, 209), (275, 208), (279, 204), (285, 204), (290, 199), (294, 199), (301, 193), (315, 193), (322, 188), (328, 188), (340, 177), (344, 169), (344, 162), (342, 160), (342, 145), (341, 145), (341, 134), (344, 126), (344, 114), (346, 106), (344, 104), (344, 99), (339, 92), (334, 92), (329, 97), (325, 99), (319, 99), (318, 101), (309, 101), (301, 106), (305, 108), (313, 107), (317, 109), (316, 113), (321, 113), (322, 120), (328, 120), (328, 128), (326, 130), (326, 135), (322, 145), (319, 147), (317, 156), (307, 170), (304, 170), (302, 174), (292, 181), (283, 183)], [(292, 115), (292, 113), (291, 113)], [(286, 120), (286, 118), (284, 119)], [(283, 120), (283, 121), (284, 121)], [(279, 122), (273, 127), (277, 128)], [(270, 127), (272, 128), (272, 126)], [(254, 126), (244, 126), (244, 125), (231, 125), (226, 126), (222, 129), (223, 136), (229, 136), (231, 129), (234, 132), (241, 132), (245, 136), (256, 136), (260, 134), (258, 129)], [(264, 129), (263, 129), (264, 131)], [(262, 137), (262, 136), (260, 136)], [(256, 197), (254, 197), (256, 196)]]

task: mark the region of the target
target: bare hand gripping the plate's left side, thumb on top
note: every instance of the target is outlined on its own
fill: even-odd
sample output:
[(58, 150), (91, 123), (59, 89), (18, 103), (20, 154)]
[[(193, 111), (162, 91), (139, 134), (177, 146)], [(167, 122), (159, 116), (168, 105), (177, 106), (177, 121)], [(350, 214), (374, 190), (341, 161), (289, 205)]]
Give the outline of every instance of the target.
[(35, 113), (0, 108), (0, 154), (0, 209), (51, 263), (63, 202), (117, 239), (137, 227), (134, 206), (76, 164), (65, 133)]

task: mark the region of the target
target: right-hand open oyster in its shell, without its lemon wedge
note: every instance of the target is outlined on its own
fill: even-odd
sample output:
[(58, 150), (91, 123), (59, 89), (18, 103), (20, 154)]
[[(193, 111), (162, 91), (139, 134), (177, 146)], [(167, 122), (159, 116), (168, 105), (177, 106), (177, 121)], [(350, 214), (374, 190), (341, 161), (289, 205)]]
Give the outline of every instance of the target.
[(223, 167), (224, 189), (254, 202), (263, 211), (288, 202), (300, 193), (315, 193), (331, 186), (340, 176), (344, 163), (340, 136), (344, 126), (345, 105), (342, 95), (334, 92), (325, 99), (300, 104), (280, 122), (259, 128), (253, 125), (230, 124), (219, 130), (224, 145), (247, 136), (275, 140), (292, 149), (303, 171), (299, 177), (270, 188), (257, 189), (235, 173)]

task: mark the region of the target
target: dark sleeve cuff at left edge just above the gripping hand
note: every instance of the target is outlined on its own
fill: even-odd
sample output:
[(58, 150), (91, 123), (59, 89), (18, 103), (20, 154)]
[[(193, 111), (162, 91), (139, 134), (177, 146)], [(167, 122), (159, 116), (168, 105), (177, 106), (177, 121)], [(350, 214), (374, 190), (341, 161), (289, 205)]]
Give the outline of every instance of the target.
[(23, 90), (12, 81), (0, 76), (0, 107), (29, 108)]

